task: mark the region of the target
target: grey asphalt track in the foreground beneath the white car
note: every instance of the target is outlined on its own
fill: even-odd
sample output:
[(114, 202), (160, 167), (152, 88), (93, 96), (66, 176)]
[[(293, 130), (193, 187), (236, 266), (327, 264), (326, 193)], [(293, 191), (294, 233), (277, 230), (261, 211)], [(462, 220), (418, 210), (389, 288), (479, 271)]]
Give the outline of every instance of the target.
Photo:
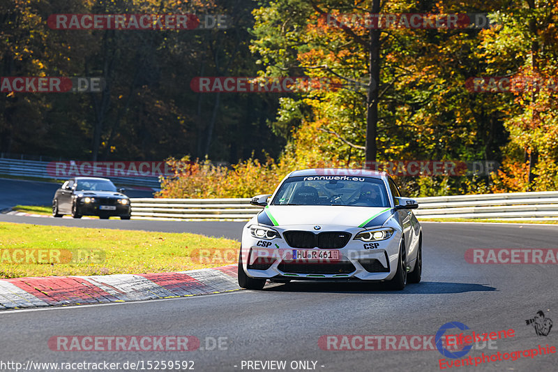
[[(68, 221), (63, 222), (75, 222)], [(141, 228), (136, 225), (140, 221), (129, 222)], [(262, 291), (3, 311), (1, 359), (24, 366), (28, 360), (119, 362), (120, 371), (135, 370), (123, 369), (126, 361), (142, 361), (146, 370), (151, 361), (155, 370), (156, 361), (169, 360), (193, 361), (195, 371), (438, 371), (439, 359), (444, 357), (437, 350), (322, 350), (319, 339), (326, 335), (434, 335), (447, 322), (467, 325), (466, 334), (515, 332), (490, 346), (479, 343), (462, 359), (482, 358), (483, 352), (507, 355), (538, 345), (558, 345), (558, 326), (548, 336), (537, 336), (533, 325), (525, 321), (539, 310), (558, 321), (556, 265), (473, 265), (464, 258), (468, 248), (556, 248), (558, 226), (424, 223), (423, 228), (423, 282), (408, 285), (402, 292), (361, 283), (298, 282), (269, 285)], [(130, 335), (195, 336), (201, 345), (195, 351), (168, 352), (55, 351), (55, 346), (51, 350), (47, 344), (53, 336)], [(219, 338), (221, 348), (214, 342)], [(330, 347), (335, 345), (343, 344), (333, 342)], [(359, 345), (363, 347), (354, 343)], [(556, 371), (557, 354), (525, 355), (515, 361), (454, 366), (451, 371)], [(262, 368), (255, 361), (285, 361), (286, 366)], [(292, 369), (296, 361), (316, 364)]]

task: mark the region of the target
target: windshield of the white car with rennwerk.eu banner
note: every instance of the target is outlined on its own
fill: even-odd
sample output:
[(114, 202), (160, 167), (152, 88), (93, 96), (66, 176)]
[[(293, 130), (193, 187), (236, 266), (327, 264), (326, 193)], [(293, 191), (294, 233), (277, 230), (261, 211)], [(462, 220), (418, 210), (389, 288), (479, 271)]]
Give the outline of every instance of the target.
[(273, 205), (390, 207), (382, 179), (347, 176), (298, 176), (280, 186)]

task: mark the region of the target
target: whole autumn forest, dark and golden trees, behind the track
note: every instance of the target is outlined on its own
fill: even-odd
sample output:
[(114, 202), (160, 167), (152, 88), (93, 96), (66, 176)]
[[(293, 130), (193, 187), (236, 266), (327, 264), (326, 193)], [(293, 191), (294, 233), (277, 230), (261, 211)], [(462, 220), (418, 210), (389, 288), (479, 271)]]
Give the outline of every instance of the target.
[[(54, 13), (222, 13), (232, 22), (54, 30)], [(455, 15), (460, 27), (353, 22), (377, 13)], [(492, 24), (479, 27), (473, 15)], [(1, 94), (0, 151), (236, 164), (199, 162), (197, 172), (225, 172), (234, 187), (193, 186), (195, 195), (246, 196), (255, 191), (248, 180), (269, 187), (289, 170), (375, 160), (502, 164), (490, 177), (407, 177), (400, 183), (412, 195), (555, 189), (557, 15), (558, 0), (12, 0), (0, 5), (2, 76), (100, 76), (106, 85), (97, 94)], [(194, 77), (257, 75), (335, 83), (282, 94), (190, 89)], [(472, 89), (490, 77), (513, 89)]]

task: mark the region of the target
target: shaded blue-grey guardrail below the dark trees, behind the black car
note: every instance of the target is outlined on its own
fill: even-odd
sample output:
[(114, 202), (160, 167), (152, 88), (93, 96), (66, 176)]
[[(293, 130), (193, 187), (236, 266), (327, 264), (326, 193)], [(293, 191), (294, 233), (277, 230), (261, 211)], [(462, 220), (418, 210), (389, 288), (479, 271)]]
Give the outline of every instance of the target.
[[(56, 177), (47, 172), (48, 161), (29, 161), (0, 158), (0, 175), (35, 177), (43, 179), (68, 179)], [(115, 184), (160, 188), (158, 177), (110, 177)]]

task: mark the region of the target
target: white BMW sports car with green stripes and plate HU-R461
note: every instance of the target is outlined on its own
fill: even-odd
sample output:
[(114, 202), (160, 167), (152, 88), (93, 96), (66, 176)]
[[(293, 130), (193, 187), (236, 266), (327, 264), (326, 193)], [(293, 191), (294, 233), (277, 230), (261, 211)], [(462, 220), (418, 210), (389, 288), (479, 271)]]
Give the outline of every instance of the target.
[(250, 204), (264, 209), (243, 228), (242, 288), (353, 280), (402, 290), (421, 281), (422, 228), (411, 211), (418, 204), (385, 172), (297, 170)]

